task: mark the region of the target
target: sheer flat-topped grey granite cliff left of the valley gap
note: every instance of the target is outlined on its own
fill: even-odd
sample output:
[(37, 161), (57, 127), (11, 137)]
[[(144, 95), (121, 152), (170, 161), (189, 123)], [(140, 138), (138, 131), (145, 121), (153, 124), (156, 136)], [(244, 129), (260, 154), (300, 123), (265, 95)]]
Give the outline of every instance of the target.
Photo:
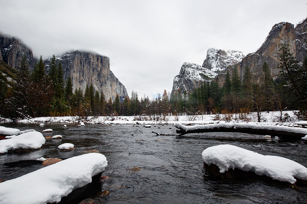
[(116, 94), (123, 100), (128, 96), (125, 86), (110, 70), (110, 58), (94, 52), (75, 50), (67, 52), (58, 58), (62, 62), (64, 79), (71, 77), (73, 89), (81, 87), (85, 90), (86, 84), (94, 87), (94, 91), (102, 90), (106, 100), (110, 97), (115, 100)]

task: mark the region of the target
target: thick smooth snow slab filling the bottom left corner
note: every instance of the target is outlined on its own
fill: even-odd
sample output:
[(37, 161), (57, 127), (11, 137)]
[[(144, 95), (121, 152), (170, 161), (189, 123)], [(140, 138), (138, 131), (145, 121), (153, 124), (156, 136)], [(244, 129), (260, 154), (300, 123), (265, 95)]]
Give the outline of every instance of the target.
[(107, 159), (100, 153), (65, 159), (0, 183), (0, 203), (60, 202), (72, 190), (90, 183), (91, 177), (103, 172), (106, 166)]

